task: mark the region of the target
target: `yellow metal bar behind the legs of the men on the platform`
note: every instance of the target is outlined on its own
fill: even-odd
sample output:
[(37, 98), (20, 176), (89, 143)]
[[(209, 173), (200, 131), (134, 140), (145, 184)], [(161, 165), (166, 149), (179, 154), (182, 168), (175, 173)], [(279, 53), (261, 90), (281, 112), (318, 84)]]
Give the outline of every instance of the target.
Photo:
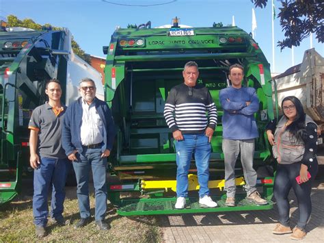
[[(239, 177), (235, 179), (235, 184), (237, 186), (245, 185), (245, 181), (243, 177)], [(208, 181), (208, 188), (219, 188), (219, 190), (223, 190), (225, 186), (225, 180), (215, 180), (215, 181)], [(141, 181), (141, 188), (142, 189), (164, 189), (165, 192), (168, 190), (172, 190), (176, 192), (176, 180), (166, 180), (166, 181)], [(197, 175), (189, 174), (188, 175), (188, 190), (199, 190), (200, 186), (198, 183)]]

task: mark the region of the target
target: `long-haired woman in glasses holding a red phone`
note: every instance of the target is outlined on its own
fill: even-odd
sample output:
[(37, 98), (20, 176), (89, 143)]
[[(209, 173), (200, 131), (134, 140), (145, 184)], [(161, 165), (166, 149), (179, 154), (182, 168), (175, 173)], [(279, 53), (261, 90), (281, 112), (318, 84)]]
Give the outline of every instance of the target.
[[(278, 206), (279, 223), (273, 229), (273, 233), (292, 233), (291, 239), (301, 240), (306, 236), (305, 228), (312, 212), (311, 181), (318, 170), (317, 125), (305, 114), (301, 102), (296, 97), (284, 98), (282, 110), (284, 116), (278, 124), (273, 120), (266, 128), (268, 140), (273, 146), (273, 156), (278, 161), (273, 194)], [(288, 193), (291, 188), (297, 196), (299, 207), (299, 220), (293, 231), (289, 225)]]

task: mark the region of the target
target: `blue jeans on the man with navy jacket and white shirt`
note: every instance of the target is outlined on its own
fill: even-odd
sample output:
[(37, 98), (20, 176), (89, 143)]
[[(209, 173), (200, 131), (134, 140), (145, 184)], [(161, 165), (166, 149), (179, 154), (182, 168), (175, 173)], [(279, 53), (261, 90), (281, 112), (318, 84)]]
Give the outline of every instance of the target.
[(77, 196), (81, 218), (90, 217), (89, 200), (89, 175), (92, 169), (94, 179), (94, 194), (96, 198), (95, 219), (105, 219), (107, 210), (107, 186), (106, 170), (107, 158), (101, 157), (101, 149), (87, 149), (83, 147), (83, 152), (77, 153), (77, 162), (73, 162), (75, 176), (77, 177)]

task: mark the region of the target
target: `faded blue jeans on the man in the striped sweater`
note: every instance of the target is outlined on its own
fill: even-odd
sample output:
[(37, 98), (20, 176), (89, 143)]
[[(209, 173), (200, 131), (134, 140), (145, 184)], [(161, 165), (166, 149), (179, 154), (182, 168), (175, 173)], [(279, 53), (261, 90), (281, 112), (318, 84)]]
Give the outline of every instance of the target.
[(209, 194), (209, 158), (211, 157), (211, 144), (208, 137), (202, 134), (183, 134), (183, 140), (176, 142), (176, 196), (188, 196), (188, 171), (192, 154), (195, 155), (199, 196)]

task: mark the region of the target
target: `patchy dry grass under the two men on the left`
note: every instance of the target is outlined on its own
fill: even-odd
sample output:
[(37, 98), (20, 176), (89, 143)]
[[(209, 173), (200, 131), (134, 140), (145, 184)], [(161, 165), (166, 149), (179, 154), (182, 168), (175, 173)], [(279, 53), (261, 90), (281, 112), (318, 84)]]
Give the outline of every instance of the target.
[[(71, 188), (71, 192), (75, 188)], [(154, 216), (118, 216), (111, 204), (107, 208), (106, 221), (111, 225), (109, 231), (97, 229), (94, 221), (89, 225), (74, 229), (79, 220), (77, 199), (70, 198), (64, 202), (64, 218), (68, 224), (64, 227), (46, 226), (48, 235), (44, 242), (161, 242), (161, 230)], [(75, 197), (75, 196), (74, 196)], [(92, 215), (94, 215), (94, 196), (90, 195)], [(0, 242), (36, 242), (33, 225), (31, 195), (20, 195), (10, 204), (0, 207)]]

